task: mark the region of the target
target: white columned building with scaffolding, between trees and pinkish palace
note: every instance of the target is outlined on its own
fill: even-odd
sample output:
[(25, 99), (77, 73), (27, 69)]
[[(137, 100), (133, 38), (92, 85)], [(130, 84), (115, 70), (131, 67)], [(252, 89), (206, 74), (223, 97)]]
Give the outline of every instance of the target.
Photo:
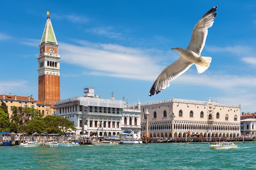
[[(93, 88), (84, 88), (84, 97), (54, 102), (56, 116), (74, 122), (76, 135), (118, 135), (126, 129), (140, 134), (140, 107), (128, 107), (123, 100), (102, 99)], [(138, 103), (139, 105), (139, 103)]]

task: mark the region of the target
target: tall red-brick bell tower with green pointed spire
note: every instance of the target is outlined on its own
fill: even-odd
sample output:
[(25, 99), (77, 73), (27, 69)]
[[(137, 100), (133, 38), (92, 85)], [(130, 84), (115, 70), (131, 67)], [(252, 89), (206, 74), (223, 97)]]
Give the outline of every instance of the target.
[(53, 105), (61, 100), (60, 94), (60, 55), (58, 42), (54, 34), (50, 13), (47, 11), (47, 21), (39, 45), (38, 55), (38, 100)]

